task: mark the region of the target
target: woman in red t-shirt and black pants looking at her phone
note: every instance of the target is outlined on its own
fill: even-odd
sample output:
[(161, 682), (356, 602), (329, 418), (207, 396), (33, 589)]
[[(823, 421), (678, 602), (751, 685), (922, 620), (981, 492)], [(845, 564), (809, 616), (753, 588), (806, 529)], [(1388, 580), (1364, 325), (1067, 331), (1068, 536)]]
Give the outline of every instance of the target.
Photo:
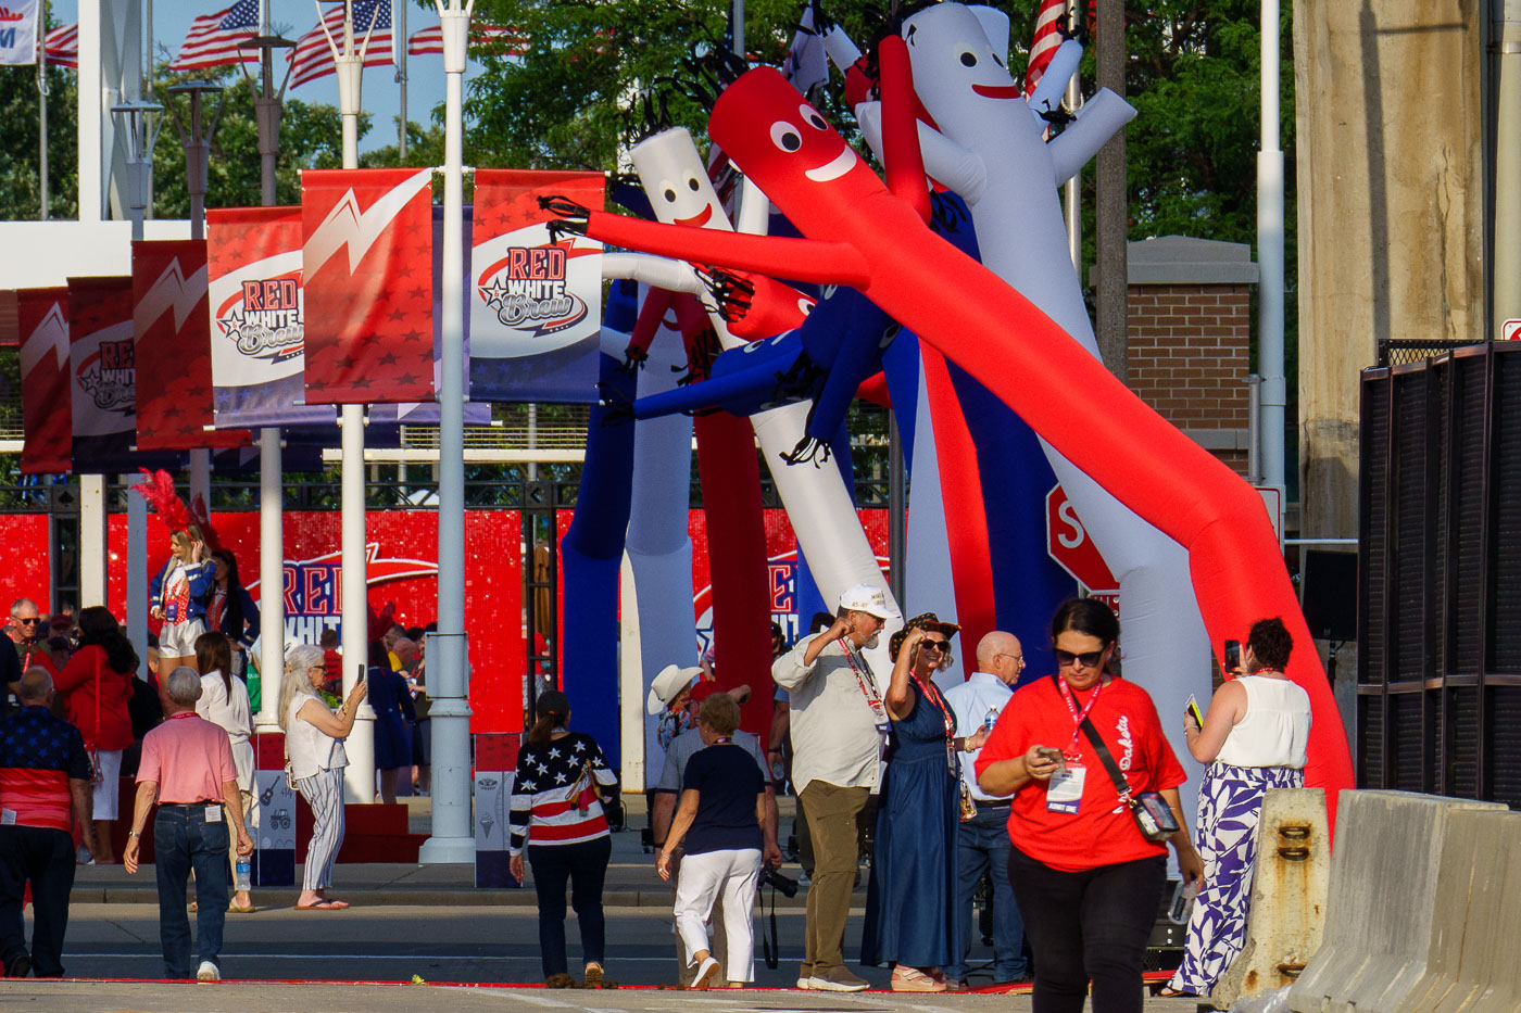
[(1186, 776), (1156, 706), (1109, 672), (1118, 639), (1104, 602), (1062, 602), (1051, 619), (1059, 674), (1015, 694), (976, 757), (983, 791), (1015, 795), (1008, 881), (1034, 951), (1036, 1013), (1080, 1013), (1089, 981), (1095, 1010), (1141, 1011), (1145, 943), (1167, 879), (1167, 847), (1119, 802), (1084, 718), (1132, 792), (1162, 792), (1183, 827), (1170, 841), (1179, 870), (1203, 875), (1177, 797)]

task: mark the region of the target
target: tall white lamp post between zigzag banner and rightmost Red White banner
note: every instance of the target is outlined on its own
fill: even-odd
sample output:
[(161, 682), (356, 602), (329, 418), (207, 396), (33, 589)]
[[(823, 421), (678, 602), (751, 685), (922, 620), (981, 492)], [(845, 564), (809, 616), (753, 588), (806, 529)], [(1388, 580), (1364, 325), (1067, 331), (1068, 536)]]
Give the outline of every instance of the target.
[[(473, 862), (470, 820), (470, 703), (465, 645), (464, 462), (464, 73), (470, 12), (438, 0), (444, 37), (444, 256), (443, 350), (438, 373), (438, 633), (427, 645), (429, 719), (433, 729), (433, 835), (423, 864)], [(435, 668), (437, 665), (437, 668)]]

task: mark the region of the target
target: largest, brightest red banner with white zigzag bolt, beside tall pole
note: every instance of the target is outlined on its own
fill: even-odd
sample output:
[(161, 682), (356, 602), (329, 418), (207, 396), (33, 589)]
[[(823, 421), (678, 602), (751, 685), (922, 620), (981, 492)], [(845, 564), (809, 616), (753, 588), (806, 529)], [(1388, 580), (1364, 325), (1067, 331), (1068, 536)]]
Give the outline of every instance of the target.
[(433, 400), (432, 178), (301, 173), (307, 405)]

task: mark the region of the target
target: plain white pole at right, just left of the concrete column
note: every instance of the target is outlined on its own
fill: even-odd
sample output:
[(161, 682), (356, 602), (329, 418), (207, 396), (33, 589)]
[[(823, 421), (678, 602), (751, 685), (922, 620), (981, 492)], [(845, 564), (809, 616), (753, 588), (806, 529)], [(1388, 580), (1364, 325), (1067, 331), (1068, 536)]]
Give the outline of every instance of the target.
[(1278, 0), (1262, 0), (1262, 151), (1256, 154), (1256, 357), (1262, 484), (1284, 488), (1284, 152), (1278, 132)]

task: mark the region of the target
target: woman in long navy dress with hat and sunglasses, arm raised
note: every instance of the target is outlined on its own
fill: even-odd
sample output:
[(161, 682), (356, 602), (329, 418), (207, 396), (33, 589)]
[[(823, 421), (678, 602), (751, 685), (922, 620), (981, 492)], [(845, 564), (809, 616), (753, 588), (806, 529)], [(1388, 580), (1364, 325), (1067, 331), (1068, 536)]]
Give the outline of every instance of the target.
[(945, 992), (940, 969), (961, 955), (960, 753), (978, 748), (987, 732), (958, 738), (955, 710), (934, 684), (934, 674), (951, 665), (951, 637), (960, 628), (926, 611), (903, 624), (887, 648), (893, 680), (882, 703), (893, 738), (876, 811), (861, 963), (891, 964), (894, 992)]

